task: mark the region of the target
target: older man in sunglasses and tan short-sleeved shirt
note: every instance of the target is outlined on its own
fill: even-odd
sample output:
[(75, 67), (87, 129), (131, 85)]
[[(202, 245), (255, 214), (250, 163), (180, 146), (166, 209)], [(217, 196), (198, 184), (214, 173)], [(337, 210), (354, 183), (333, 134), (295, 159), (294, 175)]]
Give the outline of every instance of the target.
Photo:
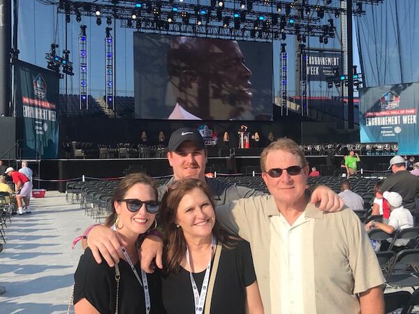
[(309, 203), (300, 147), (273, 142), (260, 165), (271, 195), (217, 207), (216, 217), (251, 244), (265, 313), (384, 313), (384, 278), (364, 227), (351, 209)]

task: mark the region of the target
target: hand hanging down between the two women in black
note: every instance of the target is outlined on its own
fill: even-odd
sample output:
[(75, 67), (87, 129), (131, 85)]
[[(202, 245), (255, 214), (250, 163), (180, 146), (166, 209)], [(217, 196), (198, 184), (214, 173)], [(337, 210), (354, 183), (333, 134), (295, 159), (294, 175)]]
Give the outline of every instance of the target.
[(142, 241), (140, 250), (138, 250), (138, 257), (141, 261), (141, 269), (146, 273), (154, 273), (154, 265), (152, 262), (156, 258), (156, 266), (163, 268), (163, 240), (155, 235), (149, 235)]

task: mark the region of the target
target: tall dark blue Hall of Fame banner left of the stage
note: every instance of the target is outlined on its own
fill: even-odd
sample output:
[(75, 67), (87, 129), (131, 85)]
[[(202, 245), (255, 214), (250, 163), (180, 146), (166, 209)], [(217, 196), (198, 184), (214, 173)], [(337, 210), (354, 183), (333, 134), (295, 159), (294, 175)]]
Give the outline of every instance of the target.
[(22, 158), (57, 158), (59, 76), (18, 61), (15, 65), (16, 117), (23, 118)]

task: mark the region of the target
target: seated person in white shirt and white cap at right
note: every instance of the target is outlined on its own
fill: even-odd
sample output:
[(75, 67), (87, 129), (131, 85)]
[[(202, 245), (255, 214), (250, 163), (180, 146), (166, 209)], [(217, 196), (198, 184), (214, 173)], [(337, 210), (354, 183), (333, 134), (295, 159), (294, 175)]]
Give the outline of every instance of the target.
[[(396, 192), (385, 191), (383, 197), (387, 200), (388, 204), (390, 204), (390, 218), (388, 223), (378, 223), (372, 220), (365, 225), (365, 229), (368, 231), (371, 228), (376, 227), (388, 234), (392, 234), (395, 231), (413, 227), (413, 216), (409, 209), (405, 209), (402, 206), (402, 196)], [(391, 241), (391, 238), (381, 241), (380, 251), (388, 251)], [(392, 251), (402, 251), (406, 248), (408, 243), (408, 239), (397, 239)]]

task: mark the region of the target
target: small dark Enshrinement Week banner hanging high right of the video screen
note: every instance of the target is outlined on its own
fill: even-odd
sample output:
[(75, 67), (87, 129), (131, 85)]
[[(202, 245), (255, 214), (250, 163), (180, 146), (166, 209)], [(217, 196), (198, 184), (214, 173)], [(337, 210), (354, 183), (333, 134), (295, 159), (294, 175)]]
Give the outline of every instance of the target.
[[(307, 80), (325, 82), (335, 77), (334, 69), (339, 74), (342, 70), (342, 55), (340, 52), (304, 51), (302, 62), (305, 61)], [(303, 67), (304, 69), (304, 67)]]

